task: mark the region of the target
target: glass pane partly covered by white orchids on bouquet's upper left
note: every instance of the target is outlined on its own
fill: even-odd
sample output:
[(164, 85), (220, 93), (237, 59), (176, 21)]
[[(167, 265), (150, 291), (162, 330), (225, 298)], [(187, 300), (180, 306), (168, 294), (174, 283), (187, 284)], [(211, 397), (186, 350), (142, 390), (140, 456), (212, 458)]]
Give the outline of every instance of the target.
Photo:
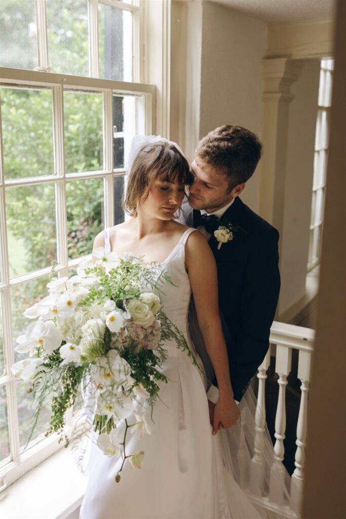
[[(49, 276), (33, 279), (12, 286), (11, 288), (11, 310), (12, 310), (12, 337), (13, 347), (17, 346), (16, 339), (23, 335), (27, 326), (32, 323), (31, 319), (24, 317), (24, 311), (48, 295), (47, 283)], [(18, 353), (15, 350), (15, 362), (25, 359), (28, 353)]]

